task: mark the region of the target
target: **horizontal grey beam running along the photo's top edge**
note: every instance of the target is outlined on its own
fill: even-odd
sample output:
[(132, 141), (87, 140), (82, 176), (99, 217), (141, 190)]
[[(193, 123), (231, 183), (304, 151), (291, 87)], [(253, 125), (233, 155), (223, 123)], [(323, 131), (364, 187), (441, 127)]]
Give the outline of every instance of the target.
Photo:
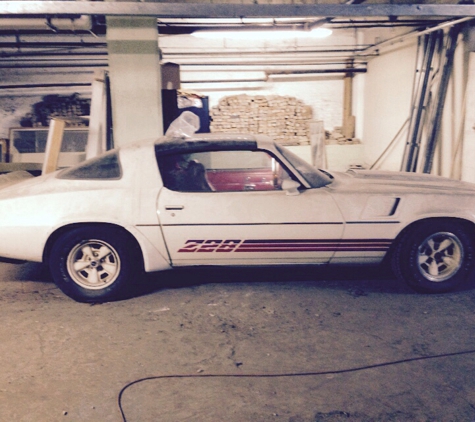
[(0, 16), (107, 15), (157, 18), (278, 18), (358, 16), (475, 16), (475, 5), (224, 4), (102, 1), (0, 1)]

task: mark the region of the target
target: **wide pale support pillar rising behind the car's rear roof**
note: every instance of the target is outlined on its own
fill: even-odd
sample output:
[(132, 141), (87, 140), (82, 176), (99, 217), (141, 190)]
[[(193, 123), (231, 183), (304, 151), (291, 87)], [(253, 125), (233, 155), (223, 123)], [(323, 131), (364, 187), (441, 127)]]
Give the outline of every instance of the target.
[(157, 20), (107, 17), (114, 145), (163, 134)]

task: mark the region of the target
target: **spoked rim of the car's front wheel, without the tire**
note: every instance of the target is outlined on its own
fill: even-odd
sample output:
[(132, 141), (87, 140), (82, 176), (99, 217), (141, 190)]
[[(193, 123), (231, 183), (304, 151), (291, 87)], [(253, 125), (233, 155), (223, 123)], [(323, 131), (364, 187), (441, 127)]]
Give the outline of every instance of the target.
[(418, 268), (430, 281), (440, 283), (452, 277), (462, 266), (463, 246), (448, 232), (431, 234), (418, 248)]

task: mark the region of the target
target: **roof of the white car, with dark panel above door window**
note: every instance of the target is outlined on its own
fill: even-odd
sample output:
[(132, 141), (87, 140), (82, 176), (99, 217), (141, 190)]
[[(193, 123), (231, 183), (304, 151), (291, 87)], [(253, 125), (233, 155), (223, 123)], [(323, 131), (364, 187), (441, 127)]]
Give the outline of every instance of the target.
[(197, 133), (187, 137), (164, 136), (155, 141), (155, 151), (158, 155), (171, 153), (191, 153), (217, 150), (256, 150), (259, 147), (271, 145), (272, 141), (266, 136), (230, 134), (230, 133)]

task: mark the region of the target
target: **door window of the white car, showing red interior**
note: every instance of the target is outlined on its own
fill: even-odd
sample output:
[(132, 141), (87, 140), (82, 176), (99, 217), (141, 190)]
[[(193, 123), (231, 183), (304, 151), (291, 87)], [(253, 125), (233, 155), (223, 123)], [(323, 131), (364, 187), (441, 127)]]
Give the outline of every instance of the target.
[(206, 151), (158, 158), (165, 187), (180, 192), (281, 190), (289, 178), (264, 151)]

